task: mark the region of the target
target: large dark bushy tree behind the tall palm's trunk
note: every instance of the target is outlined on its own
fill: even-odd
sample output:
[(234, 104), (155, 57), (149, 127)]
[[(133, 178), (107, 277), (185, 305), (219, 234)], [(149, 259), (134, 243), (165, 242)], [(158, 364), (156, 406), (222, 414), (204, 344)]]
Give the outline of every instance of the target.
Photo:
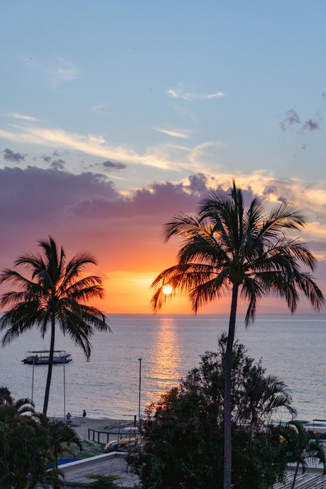
[[(144, 446), (129, 455), (144, 489), (223, 487), (226, 342), (224, 334), (217, 353), (206, 352), (198, 368), (147, 409)], [(286, 455), (279, 432), (264, 422), (281, 408), (295, 413), (290, 391), (266, 376), (261, 362), (254, 362), (238, 342), (232, 367), (233, 487), (268, 489), (282, 479)], [(258, 402), (248, 389), (254, 379)]]

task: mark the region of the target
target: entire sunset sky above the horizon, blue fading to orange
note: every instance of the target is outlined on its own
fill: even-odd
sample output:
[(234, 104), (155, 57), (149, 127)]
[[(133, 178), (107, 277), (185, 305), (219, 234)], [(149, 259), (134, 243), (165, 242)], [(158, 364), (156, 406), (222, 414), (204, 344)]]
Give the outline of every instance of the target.
[[(0, 14), (1, 268), (52, 235), (68, 258), (94, 254), (105, 312), (149, 313), (179, 246), (162, 225), (235, 177), (305, 210), (326, 293), (325, 2), (12, 0)], [(189, 311), (186, 297), (164, 309)]]

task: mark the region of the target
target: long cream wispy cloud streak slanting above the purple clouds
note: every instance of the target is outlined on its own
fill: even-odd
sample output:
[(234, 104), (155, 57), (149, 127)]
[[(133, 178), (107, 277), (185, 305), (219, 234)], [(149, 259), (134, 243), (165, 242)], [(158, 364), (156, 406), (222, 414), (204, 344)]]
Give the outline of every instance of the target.
[(123, 163), (154, 166), (163, 170), (177, 170), (164, 153), (149, 148), (140, 154), (126, 146), (109, 144), (102, 136), (94, 134), (69, 133), (63, 129), (44, 129), (42, 127), (16, 126), (15, 130), (1, 130), (0, 138), (30, 144), (40, 144), (55, 148), (75, 149), (89, 155), (104, 157)]

